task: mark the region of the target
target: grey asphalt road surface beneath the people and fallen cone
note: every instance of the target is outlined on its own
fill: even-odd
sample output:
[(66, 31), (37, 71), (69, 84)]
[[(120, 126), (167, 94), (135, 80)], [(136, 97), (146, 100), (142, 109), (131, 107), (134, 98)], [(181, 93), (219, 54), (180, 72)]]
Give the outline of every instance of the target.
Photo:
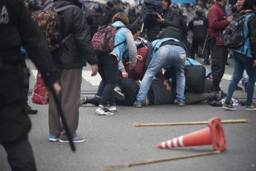
[[(223, 91), (228, 90), (228, 77), (233, 72), (233, 62), (226, 67), (225, 79), (221, 82)], [(36, 70), (28, 61), (28, 66)], [(207, 66), (210, 68), (210, 65)], [(83, 69), (89, 73), (90, 67)], [(36, 81), (31, 74), (31, 89)], [(82, 83), (82, 97), (93, 96), (97, 90), (97, 80), (85, 80)], [(240, 85), (241, 86), (241, 85)], [(246, 99), (246, 93), (235, 91), (234, 96), (239, 100)], [(254, 102), (256, 93), (254, 94)], [(220, 117), (221, 120), (249, 119), (250, 123), (225, 123), (225, 141), (227, 149), (220, 154), (202, 157), (164, 161), (155, 164), (144, 164), (118, 170), (138, 171), (240, 171), (256, 170), (256, 112), (246, 111), (244, 106), (237, 106), (236, 111), (224, 111), (220, 107), (209, 106), (202, 102), (196, 105), (177, 106), (177, 103), (163, 106), (145, 106), (136, 109), (131, 106), (118, 106), (118, 112), (112, 116), (98, 116), (95, 106), (80, 107), (78, 135), (86, 135), (85, 143), (75, 144), (77, 151), (71, 152), (68, 144), (48, 142), (48, 105), (29, 104), (38, 109), (39, 113), (30, 115), (32, 129), (29, 139), (33, 146), (38, 170), (70, 171), (104, 170), (105, 166), (125, 164), (134, 161), (144, 161), (158, 158), (170, 158), (182, 155), (193, 155), (200, 152), (211, 152), (212, 146), (190, 146), (176, 149), (158, 149), (162, 141), (185, 135), (205, 125), (182, 126), (143, 126), (135, 127), (138, 123), (167, 123), (209, 120)], [(7, 155), (0, 146), (0, 171), (9, 171)]]

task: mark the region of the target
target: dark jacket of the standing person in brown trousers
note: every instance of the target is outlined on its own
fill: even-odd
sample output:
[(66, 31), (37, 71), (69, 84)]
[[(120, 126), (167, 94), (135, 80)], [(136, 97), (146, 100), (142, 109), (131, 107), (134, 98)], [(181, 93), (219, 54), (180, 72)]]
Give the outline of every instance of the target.
[(83, 68), (83, 66), (86, 66), (86, 61), (90, 65), (95, 65), (97, 57), (92, 48), (86, 16), (81, 10), (82, 4), (77, 0), (54, 0), (55, 8), (64, 7), (68, 4), (73, 4), (77, 7), (58, 13), (60, 35), (65, 38), (68, 34), (72, 34), (60, 49), (53, 51), (55, 64), (59, 69)]

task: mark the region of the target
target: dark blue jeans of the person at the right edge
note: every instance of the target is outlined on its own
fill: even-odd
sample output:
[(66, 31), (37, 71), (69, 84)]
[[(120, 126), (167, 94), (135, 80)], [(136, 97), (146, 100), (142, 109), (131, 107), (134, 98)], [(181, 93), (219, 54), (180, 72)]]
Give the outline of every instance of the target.
[(256, 68), (252, 67), (254, 60), (251, 57), (246, 57), (243, 54), (232, 51), (234, 57), (234, 73), (233, 79), (228, 86), (228, 94), (225, 98), (225, 103), (231, 103), (231, 97), (234, 93), (234, 88), (237, 86), (243, 75), (244, 69), (249, 76), (247, 83), (247, 105), (252, 104), (252, 97), (255, 91), (255, 80), (256, 80)]

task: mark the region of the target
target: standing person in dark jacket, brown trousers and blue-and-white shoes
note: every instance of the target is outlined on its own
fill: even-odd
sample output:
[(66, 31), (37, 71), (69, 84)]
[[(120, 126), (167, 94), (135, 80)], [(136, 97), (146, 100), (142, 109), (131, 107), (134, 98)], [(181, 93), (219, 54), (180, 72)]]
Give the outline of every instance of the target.
[[(60, 77), (62, 91), (59, 98), (63, 112), (73, 136), (74, 143), (86, 141), (84, 136), (78, 136), (76, 131), (79, 120), (80, 91), (82, 83), (82, 70), (86, 62), (92, 65), (92, 76), (97, 74), (97, 57), (92, 48), (89, 26), (86, 16), (81, 10), (82, 4), (78, 0), (54, 0), (55, 8), (75, 5), (71, 9), (59, 13), (60, 35), (67, 37), (65, 43), (53, 51), (54, 62), (57, 65), (57, 74)], [(49, 141), (68, 143), (66, 132), (57, 112), (53, 97), (49, 98)]]

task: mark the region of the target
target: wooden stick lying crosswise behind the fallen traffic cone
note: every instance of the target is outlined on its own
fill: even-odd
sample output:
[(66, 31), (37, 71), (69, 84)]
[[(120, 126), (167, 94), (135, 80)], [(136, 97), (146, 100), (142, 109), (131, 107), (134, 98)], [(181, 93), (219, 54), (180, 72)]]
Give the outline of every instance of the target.
[[(222, 123), (249, 123), (250, 120), (221, 120)], [(196, 125), (207, 124), (208, 121), (182, 122), (182, 123), (133, 123), (134, 126), (174, 126), (174, 125)]]

